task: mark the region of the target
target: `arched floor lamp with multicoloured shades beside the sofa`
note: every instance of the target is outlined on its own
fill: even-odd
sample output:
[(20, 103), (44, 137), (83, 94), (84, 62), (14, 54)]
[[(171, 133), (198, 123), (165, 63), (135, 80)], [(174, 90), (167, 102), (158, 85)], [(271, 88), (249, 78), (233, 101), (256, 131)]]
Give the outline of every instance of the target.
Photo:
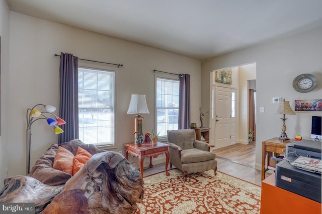
[[(39, 111), (35, 109), (38, 106), (43, 106), (46, 111)], [(40, 119), (45, 119), (48, 123), (49, 126), (54, 127), (54, 132), (55, 134), (60, 134), (63, 133), (64, 131), (58, 127), (58, 125), (63, 125), (66, 122), (57, 117), (55, 114), (52, 112), (56, 111), (55, 106), (51, 105), (43, 105), (43, 104), (37, 104), (31, 109), (27, 109), (27, 167), (26, 167), (26, 174), (29, 174), (30, 171), (30, 145), (31, 145), (31, 125)], [(55, 119), (48, 117), (48, 115), (53, 116)]]

